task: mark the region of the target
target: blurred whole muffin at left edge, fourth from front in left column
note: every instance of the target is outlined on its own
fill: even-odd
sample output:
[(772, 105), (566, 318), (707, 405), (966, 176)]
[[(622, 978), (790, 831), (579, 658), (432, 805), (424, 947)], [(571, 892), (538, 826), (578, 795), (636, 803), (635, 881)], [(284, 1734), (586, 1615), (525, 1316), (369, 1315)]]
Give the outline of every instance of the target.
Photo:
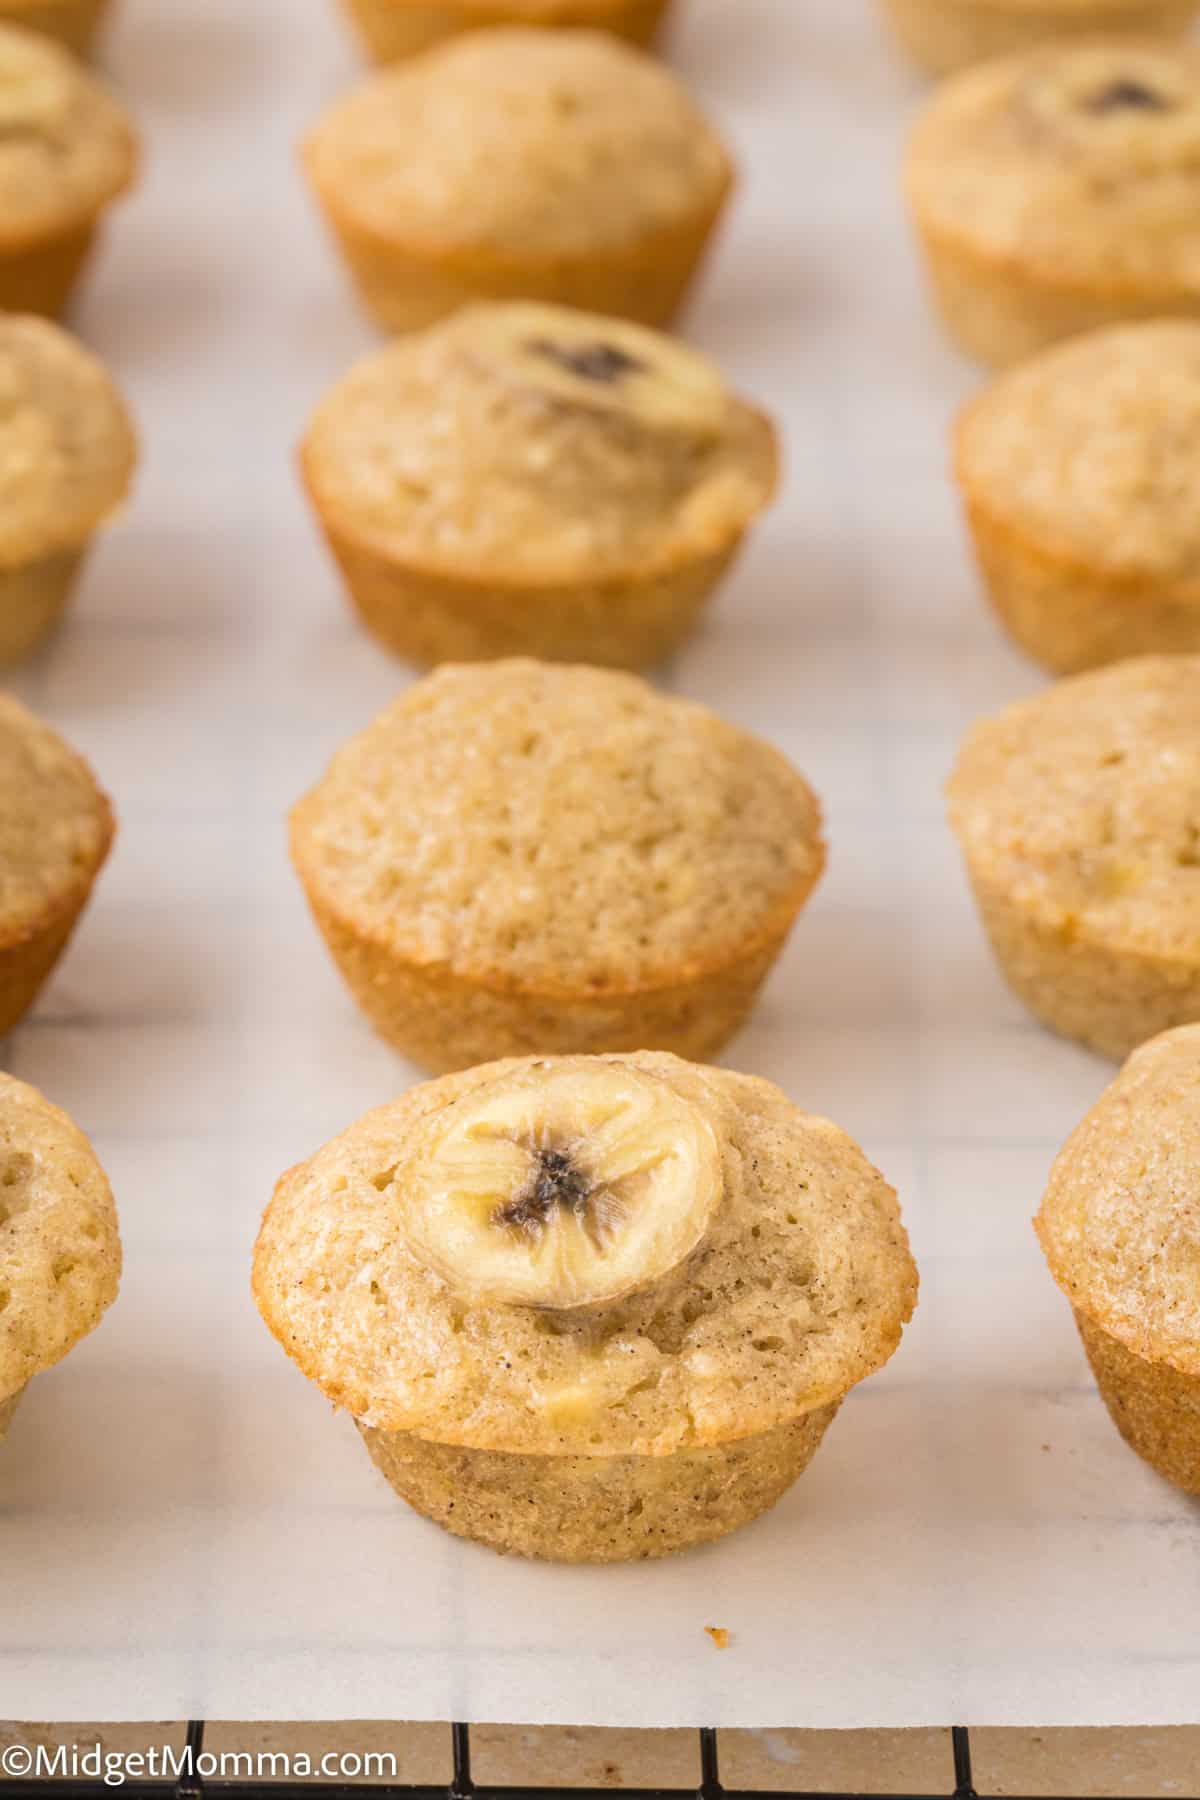
[(137, 171), (126, 110), (70, 56), (0, 25), (0, 310), (56, 315)]

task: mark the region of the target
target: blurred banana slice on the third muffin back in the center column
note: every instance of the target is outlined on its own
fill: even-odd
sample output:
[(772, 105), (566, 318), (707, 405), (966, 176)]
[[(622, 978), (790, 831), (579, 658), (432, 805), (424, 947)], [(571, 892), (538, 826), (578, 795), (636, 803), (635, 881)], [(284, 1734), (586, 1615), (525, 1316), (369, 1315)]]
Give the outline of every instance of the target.
[(711, 362), (646, 326), (567, 306), (480, 306), (455, 322), (464, 351), (511, 389), (655, 432), (711, 441), (729, 389)]

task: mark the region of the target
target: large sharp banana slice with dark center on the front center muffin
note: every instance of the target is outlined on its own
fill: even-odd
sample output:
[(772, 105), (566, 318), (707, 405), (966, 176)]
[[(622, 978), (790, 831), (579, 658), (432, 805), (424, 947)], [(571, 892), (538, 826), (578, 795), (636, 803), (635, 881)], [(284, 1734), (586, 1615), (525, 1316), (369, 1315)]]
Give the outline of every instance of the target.
[(588, 1307), (678, 1267), (720, 1197), (696, 1107), (655, 1076), (567, 1057), (432, 1123), (403, 1175), (405, 1238), (471, 1301)]

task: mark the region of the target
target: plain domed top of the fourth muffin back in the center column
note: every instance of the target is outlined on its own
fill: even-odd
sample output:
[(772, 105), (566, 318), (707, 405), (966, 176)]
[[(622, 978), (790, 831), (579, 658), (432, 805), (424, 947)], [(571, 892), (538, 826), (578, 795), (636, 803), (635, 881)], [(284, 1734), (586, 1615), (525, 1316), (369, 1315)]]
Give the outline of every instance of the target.
[(306, 144), (381, 239), (504, 257), (624, 250), (714, 209), (730, 162), (660, 63), (606, 32), (468, 32), (371, 76)]

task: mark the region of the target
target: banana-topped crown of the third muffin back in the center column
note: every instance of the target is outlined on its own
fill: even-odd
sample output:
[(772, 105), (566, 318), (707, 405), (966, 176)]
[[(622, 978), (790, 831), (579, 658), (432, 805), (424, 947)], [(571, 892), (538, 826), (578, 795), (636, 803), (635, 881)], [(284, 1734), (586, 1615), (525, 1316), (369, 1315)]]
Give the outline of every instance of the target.
[(351, 369), (302, 452), (322, 515), (383, 554), (493, 581), (667, 569), (732, 544), (775, 434), (644, 326), (471, 306)]

